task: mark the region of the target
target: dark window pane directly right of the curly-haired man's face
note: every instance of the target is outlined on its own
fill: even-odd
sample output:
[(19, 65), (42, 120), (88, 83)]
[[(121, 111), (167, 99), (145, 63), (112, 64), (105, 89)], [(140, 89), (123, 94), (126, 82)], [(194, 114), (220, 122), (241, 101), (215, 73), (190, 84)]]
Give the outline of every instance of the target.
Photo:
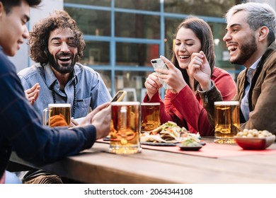
[(110, 65), (110, 42), (87, 41), (82, 64), (86, 65)]

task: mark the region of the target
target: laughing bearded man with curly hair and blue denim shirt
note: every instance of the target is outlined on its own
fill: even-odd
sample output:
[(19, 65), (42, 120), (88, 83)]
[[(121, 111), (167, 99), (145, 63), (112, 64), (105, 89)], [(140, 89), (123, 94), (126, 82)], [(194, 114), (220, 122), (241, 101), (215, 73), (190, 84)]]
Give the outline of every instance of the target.
[(18, 76), (40, 115), (50, 103), (71, 103), (71, 117), (85, 117), (89, 107), (111, 100), (100, 74), (78, 63), (84, 55), (83, 33), (66, 11), (54, 11), (36, 23), (28, 44), (30, 58), (38, 64)]

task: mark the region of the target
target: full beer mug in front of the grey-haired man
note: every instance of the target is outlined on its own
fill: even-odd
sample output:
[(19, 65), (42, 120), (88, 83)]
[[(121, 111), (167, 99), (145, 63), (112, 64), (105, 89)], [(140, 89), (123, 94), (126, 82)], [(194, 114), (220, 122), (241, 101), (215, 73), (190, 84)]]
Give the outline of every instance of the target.
[(234, 144), (234, 136), (240, 130), (238, 101), (214, 102), (214, 142)]

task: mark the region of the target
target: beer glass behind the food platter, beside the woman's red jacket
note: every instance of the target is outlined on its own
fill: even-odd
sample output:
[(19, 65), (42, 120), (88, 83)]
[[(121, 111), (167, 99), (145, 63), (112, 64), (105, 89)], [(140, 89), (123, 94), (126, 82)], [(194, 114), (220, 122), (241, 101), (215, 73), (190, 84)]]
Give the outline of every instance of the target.
[(142, 103), (141, 114), (141, 132), (149, 132), (160, 126), (160, 103)]

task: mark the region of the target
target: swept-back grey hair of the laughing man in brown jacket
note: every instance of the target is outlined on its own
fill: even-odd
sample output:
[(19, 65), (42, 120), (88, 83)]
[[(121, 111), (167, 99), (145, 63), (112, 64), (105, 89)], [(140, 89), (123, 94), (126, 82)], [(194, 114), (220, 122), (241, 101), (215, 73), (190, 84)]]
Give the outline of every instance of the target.
[(246, 22), (252, 30), (257, 30), (262, 26), (268, 27), (268, 42), (274, 42), (276, 36), (276, 13), (275, 10), (268, 4), (249, 2), (246, 4), (238, 4), (229, 9), (224, 18), (226, 23), (230, 18), (239, 11), (246, 11)]

